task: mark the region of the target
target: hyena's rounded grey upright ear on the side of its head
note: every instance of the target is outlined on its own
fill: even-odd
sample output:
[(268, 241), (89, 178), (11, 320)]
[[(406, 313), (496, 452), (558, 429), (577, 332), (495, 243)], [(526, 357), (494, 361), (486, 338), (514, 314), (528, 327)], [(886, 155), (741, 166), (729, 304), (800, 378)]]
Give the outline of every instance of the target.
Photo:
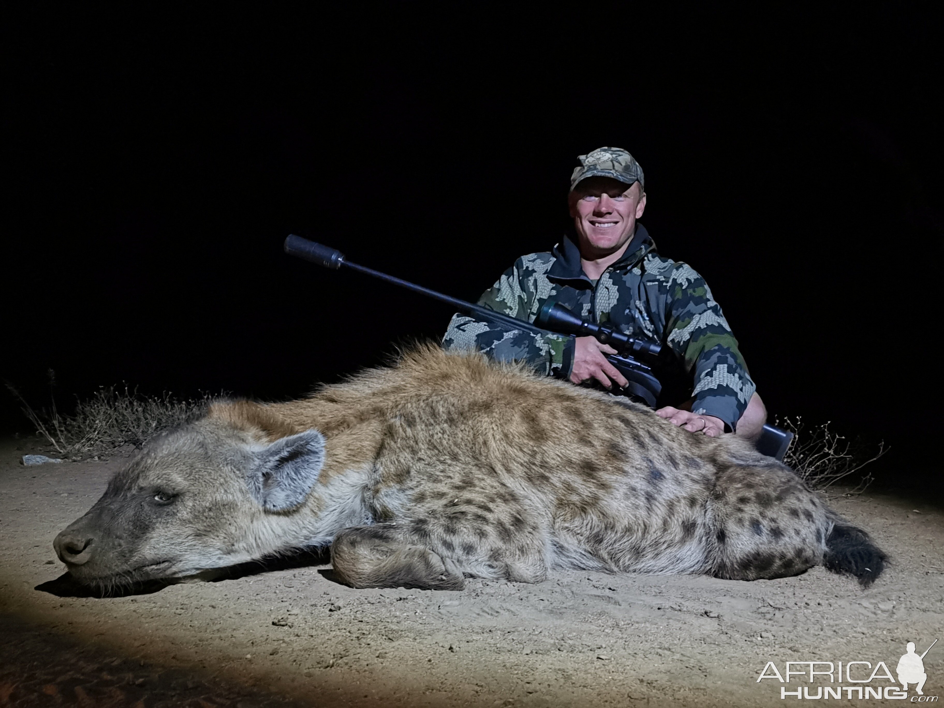
[(325, 438), (317, 430), (289, 435), (255, 452), (249, 492), (269, 512), (301, 504), (325, 464)]

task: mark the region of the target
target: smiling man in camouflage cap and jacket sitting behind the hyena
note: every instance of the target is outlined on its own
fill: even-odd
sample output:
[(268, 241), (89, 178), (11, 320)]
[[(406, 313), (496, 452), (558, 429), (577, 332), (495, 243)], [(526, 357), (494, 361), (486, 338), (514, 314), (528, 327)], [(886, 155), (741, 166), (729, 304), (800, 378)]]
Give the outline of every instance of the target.
[[(669, 346), (691, 376), (690, 401), (656, 413), (692, 432), (760, 435), (767, 417), (747, 365), (704, 278), (660, 256), (642, 224), (642, 168), (625, 150), (580, 156), (570, 180), (575, 234), (549, 253), (515, 261), (479, 304), (533, 322), (550, 298), (584, 320), (609, 322), (637, 339)], [(443, 345), (474, 347), (499, 361), (525, 360), (539, 371), (610, 388), (626, 379), (606, 360), (615, 349), (593, 337), (536, 334), (456, 314)]]

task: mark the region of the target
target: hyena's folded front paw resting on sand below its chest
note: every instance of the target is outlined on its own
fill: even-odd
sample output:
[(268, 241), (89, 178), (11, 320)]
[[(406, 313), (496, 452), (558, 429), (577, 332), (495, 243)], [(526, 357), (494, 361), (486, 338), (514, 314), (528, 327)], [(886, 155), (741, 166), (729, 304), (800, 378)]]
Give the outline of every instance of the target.
[(353, 526), (335, 537), (331, 565), (352, 587), (464, 588), (463, 572), (454, 561), (412, 540), (393, 523)]

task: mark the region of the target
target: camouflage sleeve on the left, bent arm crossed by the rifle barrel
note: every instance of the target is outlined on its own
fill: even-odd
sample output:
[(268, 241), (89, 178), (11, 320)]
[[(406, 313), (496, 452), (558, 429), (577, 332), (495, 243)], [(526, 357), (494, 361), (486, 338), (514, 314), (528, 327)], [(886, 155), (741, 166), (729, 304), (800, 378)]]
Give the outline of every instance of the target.
[[(529, 287), (529, 280), (533, 281), (533, 278), (525, 278), (525, 271), (523, 262), (520, 259), (515, 261), (495, 285), (481, 295), (478, 304), (531, 322), (531, 305), (536, 294)], [(528, 362), (538, 372), (562, 378), (570, 376), (574, 361), (573, 337), (510, 329), (459, 313), (454, 314), (449, 322), (443, 346), (447, 349), (478, 349), (498, 362)]]

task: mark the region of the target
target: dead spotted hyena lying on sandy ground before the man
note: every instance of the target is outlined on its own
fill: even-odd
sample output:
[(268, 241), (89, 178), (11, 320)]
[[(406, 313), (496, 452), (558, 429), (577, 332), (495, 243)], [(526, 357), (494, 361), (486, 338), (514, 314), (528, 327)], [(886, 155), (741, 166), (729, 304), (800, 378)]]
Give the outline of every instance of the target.
[(59, 533), (90, 584), (327, 547), (355, 587), (541, 582), (554, 568), (755, 580), (884, 554), (733, 436), (434, 346), (302, 400), (220, 402), (151, 442)]

